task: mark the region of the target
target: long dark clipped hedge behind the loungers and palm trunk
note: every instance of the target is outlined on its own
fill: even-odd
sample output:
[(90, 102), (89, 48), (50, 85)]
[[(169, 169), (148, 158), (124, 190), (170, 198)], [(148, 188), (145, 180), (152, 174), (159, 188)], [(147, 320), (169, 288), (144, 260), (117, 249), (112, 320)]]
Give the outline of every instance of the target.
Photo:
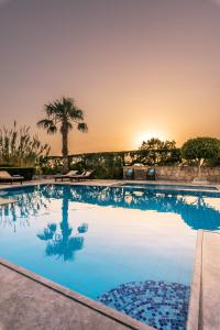
[[(124, 151), (101, 152), (69, 155), (69, 169), (82, 172), (95, 169), (95, 178), (120, 179), (123, 177), (123, 166), (142, 163), (144, 165), (175, 165), (180, 163), (180, 151), (156, 150), (156, 151)], [(56, 174), (63, 170), (63, 157), (48, 156), (41, 164), (43, 174)]]

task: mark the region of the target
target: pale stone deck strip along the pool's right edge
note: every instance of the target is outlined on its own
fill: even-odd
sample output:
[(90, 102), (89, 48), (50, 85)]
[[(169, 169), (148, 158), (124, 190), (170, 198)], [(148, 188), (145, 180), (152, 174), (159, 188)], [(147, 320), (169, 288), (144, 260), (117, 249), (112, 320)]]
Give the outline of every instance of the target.
[(200, 231), (187, 330), (220, 329), (220, 233)]

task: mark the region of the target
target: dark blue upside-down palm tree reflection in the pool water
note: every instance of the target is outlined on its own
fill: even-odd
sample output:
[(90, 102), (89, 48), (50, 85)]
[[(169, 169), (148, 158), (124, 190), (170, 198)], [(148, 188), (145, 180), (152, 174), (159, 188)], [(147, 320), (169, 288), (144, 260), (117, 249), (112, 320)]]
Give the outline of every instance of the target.
[[(62, 206), (62, 222), (61, 233), (57, 233), (57, 226), (51, 223), (44, 230), (43, 234), (37, 234), (41, 240), (47, 241), (46, 255), (63, 257), (64, 261), (73, 260), (76, 251), (84, 248), (84, 237), (77, 234), (73, 235), (73, 228), (68, 223), (68, 202), (70, 197), (70, 189), (65, 189), (63, 195)], [(78, 228), (79, 233), (87, 231), (87, 224), (81, 224)]]

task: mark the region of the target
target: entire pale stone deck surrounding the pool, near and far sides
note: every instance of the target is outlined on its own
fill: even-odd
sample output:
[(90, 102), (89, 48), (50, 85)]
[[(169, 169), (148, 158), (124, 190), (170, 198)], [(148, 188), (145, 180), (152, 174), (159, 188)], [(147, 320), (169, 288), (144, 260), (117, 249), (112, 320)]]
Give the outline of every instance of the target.
[[(52, 183), (53, 180), (47, 179), (32, 182), (31, 185)], [(117, 183), (119, 180), (92, 180), (80, 184), (111, 186)], [(24, 183), (25, 185), (30, 183)], [(211, 186), (220, 189), (219, 184), (211, 184)], [(10, 187), (1, 185), (0, 189)], [(0, 206), (8, 202), (14, 200), (7, 200), (1, 196)], [(2, 330), (153, 329), (1, 258), (0, 288), (0, 329)], [(220, 233), (200, 230), (195, 254), (187, 330), (220, 329), (219, 310)]]

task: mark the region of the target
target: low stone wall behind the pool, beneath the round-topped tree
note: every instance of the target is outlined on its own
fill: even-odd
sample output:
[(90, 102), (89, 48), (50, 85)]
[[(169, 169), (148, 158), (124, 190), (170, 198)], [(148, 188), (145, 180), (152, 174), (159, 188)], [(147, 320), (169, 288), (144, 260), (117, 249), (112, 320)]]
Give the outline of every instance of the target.
[[(125, 168), (133, 168), (134, 179), (146, 179), (146, 166), (135, 167), (127, 166), (123, 170), (123, 177), (125, 176)], [(179, 180), (179, 182), (193, 182), (198, 177), (198, 168), (193, 166), (157, 166), (156, 179), (157, 180)], [(201, 180), (220, 183), (220, 166), (218, 167), (202, 167)]]

